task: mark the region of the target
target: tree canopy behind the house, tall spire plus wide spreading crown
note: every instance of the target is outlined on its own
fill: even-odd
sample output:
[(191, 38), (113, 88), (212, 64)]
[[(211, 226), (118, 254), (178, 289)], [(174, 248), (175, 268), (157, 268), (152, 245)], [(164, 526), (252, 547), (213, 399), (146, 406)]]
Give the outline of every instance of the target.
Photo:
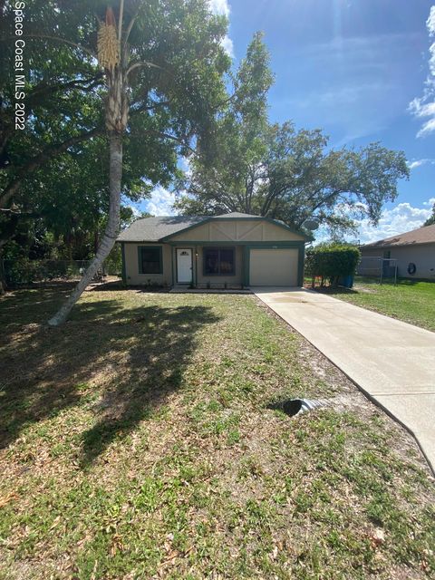
[[(295, 130), (291, 121), (270, 123), (266, 97), (272, 83), (268, 55), (256, 36), (235, 79), (243, 78), (249, 59), (264, 91), (244, 92), (227, 102), (213, 135), (213, 163), (198, 148), (187, 179), (179, 185), (181, 213), (213, 215), (241, 211), (269, 216), (301, 228), (314, 218), (331, 233), (353, 231), (356, 218), (376, 224), (382, 205), (397, 197), (397, 182), (409, 176), (402, 151), (378, 142), (361, 149), (330, 146), (319, 129)], [(208, 145), (208, 148), (210, 145)]]

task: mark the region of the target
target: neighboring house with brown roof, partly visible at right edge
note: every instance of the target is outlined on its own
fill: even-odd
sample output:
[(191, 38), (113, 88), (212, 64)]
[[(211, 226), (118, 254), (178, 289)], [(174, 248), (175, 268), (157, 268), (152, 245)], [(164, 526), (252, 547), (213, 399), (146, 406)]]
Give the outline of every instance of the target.
[[(435, 279), (435, 225), (386, 237), (360, 249), (363, 258), (397, 259), (398, 275), (401, 277)], [(369, 263), (368, 260), (366, 262)]]

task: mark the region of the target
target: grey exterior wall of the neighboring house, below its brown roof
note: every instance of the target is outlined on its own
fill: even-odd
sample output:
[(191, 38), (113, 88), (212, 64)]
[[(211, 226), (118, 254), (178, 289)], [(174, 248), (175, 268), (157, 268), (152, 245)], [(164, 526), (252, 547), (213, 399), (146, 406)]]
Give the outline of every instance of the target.
[[(386, 247), (362, 250), (362, 256), (383, 257), (384, 250), (390, 251), (390, 257), (397, 259), (398, 275), (403, 278), (426, 278), (435, 280), (435, 244), (418, 246)], [(408, 274), (408, 264), (415, 264), (414, 275)]]

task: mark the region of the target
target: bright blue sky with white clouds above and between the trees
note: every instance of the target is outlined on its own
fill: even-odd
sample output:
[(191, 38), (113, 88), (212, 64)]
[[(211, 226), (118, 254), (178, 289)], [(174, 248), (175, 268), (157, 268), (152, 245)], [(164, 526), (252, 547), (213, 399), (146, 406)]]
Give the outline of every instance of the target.
[[(275, 84), (269, 119), (322, 128), (333, 147), (372, 141), (404, 150), (411, 177), (361, 243), (420, 227), (435, 202), (435, 3), (425, 0), (209, 0), (226, 14), (224, 46), (235, 66), (260, 30)], [(141, 204), (173, 213), (157, 188)]]

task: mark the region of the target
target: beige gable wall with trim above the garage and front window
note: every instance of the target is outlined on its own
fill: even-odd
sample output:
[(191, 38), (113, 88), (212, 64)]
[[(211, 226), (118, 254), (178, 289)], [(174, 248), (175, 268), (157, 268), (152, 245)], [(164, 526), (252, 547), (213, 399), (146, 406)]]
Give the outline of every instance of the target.
[(217, 219), (170, 237), (171, 242), (183, 240), (196, 242), (277, 242), (302, 241), (304, 237), (285, 229), (285, 227), (275, 226), (266, 220)]

